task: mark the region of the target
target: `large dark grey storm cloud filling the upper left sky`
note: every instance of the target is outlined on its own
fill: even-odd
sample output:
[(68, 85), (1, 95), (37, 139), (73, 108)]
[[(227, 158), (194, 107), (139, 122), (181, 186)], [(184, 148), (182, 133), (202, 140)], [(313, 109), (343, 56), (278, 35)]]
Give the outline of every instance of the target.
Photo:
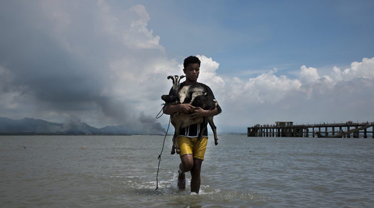
[(110, 62), (130, 49), (101, 31), (100, 7), (83, 1), (66, 4), (0, 3), (0, 93), (30, 96), (35, 102), (29, 105), (42, 106), (44, 112), (89, 114), (101, 109), (112, 124), (162, 132), (155, 119), (144, 119), (126, 102), (131, 98), (121, 100), (111, 92), (116, 86)]

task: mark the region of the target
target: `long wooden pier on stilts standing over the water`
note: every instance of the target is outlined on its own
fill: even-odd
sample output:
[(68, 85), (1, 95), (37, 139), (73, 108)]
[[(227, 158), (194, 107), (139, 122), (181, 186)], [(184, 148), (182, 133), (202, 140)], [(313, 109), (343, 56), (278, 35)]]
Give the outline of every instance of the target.
[[(374, 138), (374, 122), (293, 125), (293, 122), (275, 122), (275, 125), (248, 127), (248, 137), (321, 137)], [(371, 130), (371, 131), (370, 131)]]

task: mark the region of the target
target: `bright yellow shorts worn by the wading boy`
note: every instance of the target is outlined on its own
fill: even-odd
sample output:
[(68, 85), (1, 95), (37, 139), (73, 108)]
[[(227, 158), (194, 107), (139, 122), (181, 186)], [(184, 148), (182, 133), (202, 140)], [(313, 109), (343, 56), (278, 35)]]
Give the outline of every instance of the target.
[(208, 138), (202, 137), (201, 139), (189, 138), (185, 136), (179, 136), (178, 147), (180, 149), (181, 157), (184, 155), (192, 155), (194, 159), (204, 160), (206, 145), (208, 144)]

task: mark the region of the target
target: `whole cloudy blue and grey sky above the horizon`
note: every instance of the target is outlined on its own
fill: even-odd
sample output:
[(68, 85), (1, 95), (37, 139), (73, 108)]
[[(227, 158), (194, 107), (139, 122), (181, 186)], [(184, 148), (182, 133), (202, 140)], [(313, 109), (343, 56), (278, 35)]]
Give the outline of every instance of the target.
[(0, 1), (0, 117), (124, 125), (156, 119), (169, 75), (201, 60), (218, 132), (374, 121), (372, 0)]

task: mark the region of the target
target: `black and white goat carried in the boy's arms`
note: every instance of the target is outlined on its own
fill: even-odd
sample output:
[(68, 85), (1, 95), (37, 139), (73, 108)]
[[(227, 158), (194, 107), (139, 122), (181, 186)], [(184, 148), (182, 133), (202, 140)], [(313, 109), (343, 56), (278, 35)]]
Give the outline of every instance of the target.
[[(166, 104), (168, 105), (175, 105), (179, 103), (184, 103), (186, 98), (191, 97), (190, 104), (193, 104), (192, 106), (195, 107), (201, 107), (204, 110), (212, 110), (216, 106), (219, 108), (219, 112), (221, 112), (221, 109), (212, 99), (207, 99), (206, 95), (207, 93), (204, 92), (203, 87), (200, 85), (199, 87), (196, 84), (184, 86), (181, 90), (180, 87), (180, 80), (184, 78), (185, 76), (168, 76), (168, 79), (173, 80), (173, 90), (176, 95), (163, 95), (161, 96), (161, 99), (163, 99)], [(198, 83), (197, 83), (198, 84)], [(199, 97), (200, 96), (200, 97)], [(201, 97), (202, 96), (202, 97)], [(197, 99), (196, 99), (197, 98)], [(195, 101), (196, 100), (196, 101)], [(210, 102), (209, 102), (210, 101)], [(173, 147), (171, 154), (179, 154), (180, 150), (178, 148), (177, 144), (177, 137), (179, 135), (179, 132), (182, 128), (185, 128), (192, 124), (199, 124), (204, 122), (204, 127), (202, 131), (199, 133), (199, 138), (202, 137), (202, 133), (204, 131), (204, 128), (206, 128), (207, 123), (209, 123), (210, 127), (212, 128), (213, 134), (214, 134), (214, 144), (218, 144), (218, 138), (216, 133), (216, 127), (213, 123), (213, 117), (208, 118), (197, 118), (197, 119), (191, 119), (186, 113), (184, 112), (176, 112), (171, 115), (171, 122), (175, 128), (174, 136), (173, 136)]]

